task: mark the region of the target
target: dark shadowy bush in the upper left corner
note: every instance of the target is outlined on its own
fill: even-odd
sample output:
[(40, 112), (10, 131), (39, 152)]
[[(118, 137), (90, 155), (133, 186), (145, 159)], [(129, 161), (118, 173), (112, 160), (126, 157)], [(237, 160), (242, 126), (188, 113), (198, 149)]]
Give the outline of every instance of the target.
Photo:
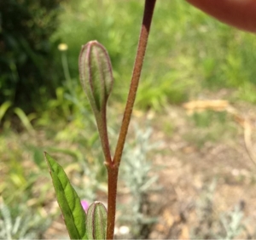
[(50, 37), (60, 2), (0, 2), (0, 102), (9, 100), (27, 112), (42, 104), (42, 94), (53, 94), (56, 44)]

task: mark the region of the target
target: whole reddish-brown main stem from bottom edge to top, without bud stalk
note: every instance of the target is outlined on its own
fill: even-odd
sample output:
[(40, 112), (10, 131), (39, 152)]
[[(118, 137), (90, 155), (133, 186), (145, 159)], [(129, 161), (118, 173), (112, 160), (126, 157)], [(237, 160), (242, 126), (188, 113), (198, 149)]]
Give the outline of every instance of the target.
[(115, 154), (111, 164), (107, 163), (108, 169), (108, 227), (107, 239), (113, 239), (115, 209), (116, 209), (116, 194), (117, 182), (119, 174), (119, 163), (122, 157), (123, 149), (125, 146), (125, 138), (128, 131), (129, 123), (131, 121), (131, 112), (137, 94), (137, 87), (143, 68), (144, 55), (147, 49), (148, 35), (151, 26), (151, 21), (154, 13), (154, 4), (156, 0), (145, 0), (143, 25), (139, 37), (137, 47), (137, 56), (133, 67), (130, 91), (125, 106), (125, 113), (121, 125), (119, 140), (116, 146)]

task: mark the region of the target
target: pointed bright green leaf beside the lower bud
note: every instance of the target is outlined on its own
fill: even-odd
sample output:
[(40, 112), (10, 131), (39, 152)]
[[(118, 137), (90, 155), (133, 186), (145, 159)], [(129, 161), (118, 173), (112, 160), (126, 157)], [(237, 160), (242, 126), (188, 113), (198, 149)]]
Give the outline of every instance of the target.
[(44, 154), (69, 237), (71, 239), (88, 239), (85, 228), (86, 214), (77, 192), (70, 184), (67, 174), (65, 174), (61, 165), (50, 157), (48, 153), (45, 152)]

